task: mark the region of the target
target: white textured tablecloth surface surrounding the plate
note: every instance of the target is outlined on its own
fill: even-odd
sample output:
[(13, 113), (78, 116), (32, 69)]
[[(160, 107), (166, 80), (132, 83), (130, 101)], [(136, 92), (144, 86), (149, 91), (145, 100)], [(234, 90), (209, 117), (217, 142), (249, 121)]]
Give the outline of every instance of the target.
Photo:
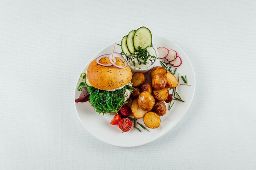
[[(255, 7), (254, 0), (0, 0), (0, 169), (255, 170)], [(140, 26), (189, 56), (195, 96), (164, 137), (119, 148), (83, 128), (74, 86), (92, 56)]]

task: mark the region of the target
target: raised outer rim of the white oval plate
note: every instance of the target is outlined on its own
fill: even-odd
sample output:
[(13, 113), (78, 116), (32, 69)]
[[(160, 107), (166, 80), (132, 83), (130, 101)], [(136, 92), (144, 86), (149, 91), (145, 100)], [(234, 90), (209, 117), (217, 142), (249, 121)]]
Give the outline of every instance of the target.
[[(194, 70), (194, 68), (193, 68), (193, 65), (192, 65), (192, 63), (191, 63), (191, 61), (190, 61), (188, 55), (180, 48), (180, 46), (178, 46), (177, 44), (175, 44), (175, 43), (172, 42), (171, 40), (168, 40), (168, 39), (163, 38), (163, 37), (158, 36), (158, 35), (153, 35), (153, 38), (162, 38), (162, 39), (164, 39), (164, 40), (167, 40), (167, 41), (173, 43), (175, 46), (177, 46), (177, 47), (186, 55), (186, 57), (187, 57), (187, 59), (188, 59), (188, 61), (189, 61), (189, 64), (191, 65), (191, 68), (192, 68), (192, 71), (193, 71), (193, 75), (194, 75), (194, 86), (193, 86), (193, 95), (192, 95), (191, 101), (189, 102), (189, 106), (188, 106), (188, 108), (186, 109), (186, 111), (185, 111), (185, 113), (184, 113), (184, 115), (186, 115), (186, 112), (188, 111), (188, 109), (189, 109), (189, 107), (190, 107), (190, 105), (191, 105), (191, 102), (193, 101), (193, 97), (194, 97), (194, 95), (195, 95), (196, 79), (195, 79), (195, 70)], [(90, 63), (90, 62), (92, 62), (92, 60), (94, 60), (94, 58), (95, 58), (101, 51), (103, 51), (104, 49), (106, 49), (106, 48), (107, 48), (108, 46), (110, 46), (111, 44), (113, 44), (113, 43), (115, 43), (115, 42), (118, 42), (118, 41), (120, 41), (120, 40), (121, 40), (121, 39), (116, 40), (116, 41), (110, 43), (109, 45), (105, 46), (105, 47), (104, 47), (103, 49), (101, 49), (97, 54), (95, 54), (95, 55), (91, 58), (91, 60), (87, 62), (87, 64)], [(86, 64), (86, 65), (87, 65), (87, 64)], [(83, 67), (83, 69), (81, 70), (80, 74), (85, 70), (86, 65)], [(77, 87), (76, 87), (76, 86), (77, 86), (77, 83), (78, 83), (79, 79), (80, 79), (80, 75), (79, 75), (79, 78), (78, 78), (77, 81), (76, 81), (75, 88), (74, 88), (74, 100), (75, 100), (75, 98), (76, 98), (76, 97), (75, 97), (76, 90), (77, 90)], [(77, 117), (79, 118), (79, 121), (81, 122), (81, 124), (83, 125), (83, 127), (84, 127), (92, 136), (94, 136), (95, 138), (99, 139), (99, 137), (95, 136), (92, 132), (90, 132), (90, 131), (84, 126), (84, 124), (83, 124), (83, 122), (81, 121), (81, 119), (80, 119), (80, 117), (79, 117), (79, 114), (78, 114), (78, 112), (77, 112), (76, 102), (74, 102), (74, 106), (75, 106), (75, 110), (76, 110), (76, 115), (77, 115)], [(110, 144), (110, 145), (112, 145), (112, 146), (119, 146), (119, 147), (136, 147), (136, 146), (142, 146), (142, 145), (148, 144), (148, 143), (150, 143), (150, 142), (153, 142), (153, 141), (155, 141), (156, 139), (159, 139), (159, 138), (162, 137), (163, 135), (166, 135), (166, 133), (168, 133), (171, 129), (173, 129), (173, 127), (175, 127), (175, 126), (180, 122), (180, 120), (184, 117), (184, 115), (182, 115), (182, 117), (180, 117), (180, 119), (178, 119), (178, 121), (176, 121), (176, 122), (173, 124), (173, 126), (171, 126), (170, 128), (168, 128), (167, 130), (165, 130), (163, 133), (161, 133), (161, 134), (155, 136), (154, 138), (152, 138), (152, 139), (150, 139), (150, 140), (148, 140), (148, 141), (146, 141), (146, 142), (144, 142), (144, 143), (138, 144), (138, 145), (130, 145), (130, 146), (115, 145), (115, 144), (108, 143), (107, 141), (103, 141), (102, 139), (99, 139), (99, 140), (100, 140), (100, 141), (103, 141), (103, 142), (106, 143), (106, 144)]]

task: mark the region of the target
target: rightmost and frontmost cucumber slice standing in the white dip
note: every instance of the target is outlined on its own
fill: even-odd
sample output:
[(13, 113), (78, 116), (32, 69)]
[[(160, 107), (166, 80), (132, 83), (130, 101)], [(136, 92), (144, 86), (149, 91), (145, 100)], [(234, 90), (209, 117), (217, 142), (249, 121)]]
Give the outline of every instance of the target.
[(145, 26), (140, 27), (137, 29), (137, 31), (134, 33), (133, 36), (133, 46), (136, 51), (139, 50), (139, 46), (142, 49), (145, 49), (147, 46), (152, 45), (152, 35), (148, 28)]

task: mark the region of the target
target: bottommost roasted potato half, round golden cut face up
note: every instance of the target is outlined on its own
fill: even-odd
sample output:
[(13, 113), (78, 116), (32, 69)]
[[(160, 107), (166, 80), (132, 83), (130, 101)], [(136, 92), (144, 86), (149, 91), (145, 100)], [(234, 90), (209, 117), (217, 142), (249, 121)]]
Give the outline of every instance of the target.
[(154, 112), (148, 112), (143, 118), (144, 124), (151, 129), (158, 128), (161, 123), (160, 117)]

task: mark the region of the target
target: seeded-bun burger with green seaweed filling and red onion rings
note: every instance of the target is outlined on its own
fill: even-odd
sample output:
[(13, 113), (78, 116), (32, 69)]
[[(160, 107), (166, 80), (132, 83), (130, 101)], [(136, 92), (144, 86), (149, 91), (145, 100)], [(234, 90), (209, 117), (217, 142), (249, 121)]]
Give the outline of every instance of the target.
[(75, 102), (89, 101), (98, 113), (117, 113), (134, 89), (131, 79), (132, 71), (121, 54), (101, 55), (81, 74), (77, 88), (81, 94)]

